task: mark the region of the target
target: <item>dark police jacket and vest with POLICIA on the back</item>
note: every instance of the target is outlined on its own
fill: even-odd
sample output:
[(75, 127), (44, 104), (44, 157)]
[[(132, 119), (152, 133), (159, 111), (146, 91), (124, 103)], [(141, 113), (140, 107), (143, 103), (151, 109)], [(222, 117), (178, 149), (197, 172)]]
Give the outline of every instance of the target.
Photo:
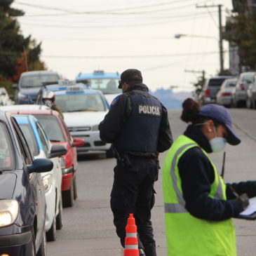
[(173, 143), (167, 110), (143, 83), (113, 100), (99, 129), (101, 140), (128, 154), (155, 154)]

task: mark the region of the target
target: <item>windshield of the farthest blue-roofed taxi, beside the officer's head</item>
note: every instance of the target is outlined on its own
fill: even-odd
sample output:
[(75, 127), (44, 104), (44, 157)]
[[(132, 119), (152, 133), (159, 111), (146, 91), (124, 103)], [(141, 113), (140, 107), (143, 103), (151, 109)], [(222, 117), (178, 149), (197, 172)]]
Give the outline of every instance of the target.
[(94, 90), (101, 90), (104, 94), (121, 93), (121, 89), (118, 88), (119, 79), (88, 79), (86, 84)]

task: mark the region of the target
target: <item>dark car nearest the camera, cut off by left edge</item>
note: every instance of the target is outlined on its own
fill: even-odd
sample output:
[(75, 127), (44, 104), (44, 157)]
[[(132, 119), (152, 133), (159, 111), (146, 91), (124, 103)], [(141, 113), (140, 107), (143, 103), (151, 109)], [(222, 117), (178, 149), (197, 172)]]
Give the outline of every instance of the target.
[(41, 173), (49, 159), (33, 159), (18, 123), (0, 112), (0, 255), (45, 256), (46, 201)]

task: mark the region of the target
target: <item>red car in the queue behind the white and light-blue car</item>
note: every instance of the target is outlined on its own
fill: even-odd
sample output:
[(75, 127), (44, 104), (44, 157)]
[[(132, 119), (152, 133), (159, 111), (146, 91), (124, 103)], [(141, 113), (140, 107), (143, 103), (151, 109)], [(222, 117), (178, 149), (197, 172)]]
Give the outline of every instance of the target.
[(73, 138), (63, 119), (58, 112), (53, 110), (33, 110), (33, 109), (20, 109), (17, 105), (17, 110), (8, 109), (11, 114), (32, 114), (38, 119), (39, 123), (48, 135), (50, 142), (53, 144), (62, 144), (67, 148), (67, 154), (62, 156), (62, 205), (64, 207), (71, 207), (74, 204), (74, 199), (77, 197), (76, 190), (76, 147), (81, 147), (85, 141), (81, 138)]

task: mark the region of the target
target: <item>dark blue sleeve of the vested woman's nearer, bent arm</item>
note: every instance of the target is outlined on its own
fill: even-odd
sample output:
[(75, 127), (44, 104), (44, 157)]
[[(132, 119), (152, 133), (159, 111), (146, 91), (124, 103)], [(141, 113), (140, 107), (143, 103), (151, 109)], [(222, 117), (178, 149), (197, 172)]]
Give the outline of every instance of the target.
[(227, 220), (241, 213), (243, 207), (235, 200), (210, 198), (214, 170), (200, 148), (186, 151), (178, 163), (185, 207), (191, 215), (203, 220)]

